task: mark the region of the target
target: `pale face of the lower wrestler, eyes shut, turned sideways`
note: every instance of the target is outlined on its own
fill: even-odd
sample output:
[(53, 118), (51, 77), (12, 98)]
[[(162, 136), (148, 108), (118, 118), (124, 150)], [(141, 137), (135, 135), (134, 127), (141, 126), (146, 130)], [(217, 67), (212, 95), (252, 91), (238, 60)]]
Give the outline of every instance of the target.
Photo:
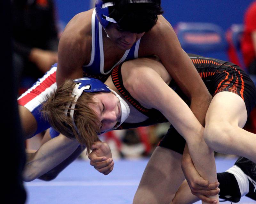
[(89, 106), (100, 119), (100, 132), (112, 129), (121, 121), (121, 105), (115, 94), (101, 92), (93, 96), (93, 101), (95, 103), (89, 103)]

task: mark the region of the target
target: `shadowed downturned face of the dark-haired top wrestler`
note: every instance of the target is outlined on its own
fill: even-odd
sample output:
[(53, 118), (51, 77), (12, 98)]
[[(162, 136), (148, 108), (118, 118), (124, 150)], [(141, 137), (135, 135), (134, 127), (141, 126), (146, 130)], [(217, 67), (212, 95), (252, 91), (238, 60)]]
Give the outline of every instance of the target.
[(121, 50), (130, 49), (145, 34), (145, 32), (138, 34), (124, 31), (116, 23), (109, 23), (105, 30), (111, 41)]

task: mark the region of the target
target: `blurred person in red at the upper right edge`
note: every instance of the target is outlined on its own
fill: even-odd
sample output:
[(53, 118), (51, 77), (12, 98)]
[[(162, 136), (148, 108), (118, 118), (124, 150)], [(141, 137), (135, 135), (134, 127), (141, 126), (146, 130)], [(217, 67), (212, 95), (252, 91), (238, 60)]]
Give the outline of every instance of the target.
[(249, 74), (256, 74), (256, 1), (248, 7), (244, 16), (244, 34), (241, 41), (244, 63)]

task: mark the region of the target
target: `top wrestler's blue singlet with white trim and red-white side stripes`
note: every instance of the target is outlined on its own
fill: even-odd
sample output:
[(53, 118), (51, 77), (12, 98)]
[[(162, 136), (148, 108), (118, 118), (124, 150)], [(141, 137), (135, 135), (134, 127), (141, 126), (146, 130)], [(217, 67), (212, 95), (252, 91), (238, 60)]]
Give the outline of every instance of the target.
[[(131, 49), (125, 51), (123, 57), (112, 67), (108, 72), (104, 72), (104, 52), (103, 52), (103, 40), (102, 40), (102, 26), (99, 20), (96, 18), (95, 9), (92, 13), (92, 53), (89, 64), (83, 65), (84, 77), (97, 78), (101, 81), (106, 81), (111, 73), (111, 70), (118, 64), (131, 59), (138, 58), (138, 50), (140, 45), (140, 39), (132, 46)], [(50, 71), (38, 79), (38, 81), (20, 96), (18, 103), (26, 107), (36, 118), (37, 131), (35, 134), (42, 132), (50, 127), (50, 124), (41, 117), (41, 106), (46, 100), (46, 95), (51, 94), (57, 87), (56, 85), (56, 69), (57, 64), (54, 64)], [(53, 133), (57, 135), (58, 133)]]

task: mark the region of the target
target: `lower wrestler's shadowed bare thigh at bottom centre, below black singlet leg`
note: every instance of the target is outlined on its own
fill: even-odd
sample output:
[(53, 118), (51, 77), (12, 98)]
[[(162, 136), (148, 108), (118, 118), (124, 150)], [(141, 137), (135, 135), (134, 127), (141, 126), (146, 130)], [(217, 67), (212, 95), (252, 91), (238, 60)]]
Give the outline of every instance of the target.
[(170, 149), (156, 147), (144, 170), (133, 203), (171, 203), (185, 179), (181, 170), (181, 157)]

